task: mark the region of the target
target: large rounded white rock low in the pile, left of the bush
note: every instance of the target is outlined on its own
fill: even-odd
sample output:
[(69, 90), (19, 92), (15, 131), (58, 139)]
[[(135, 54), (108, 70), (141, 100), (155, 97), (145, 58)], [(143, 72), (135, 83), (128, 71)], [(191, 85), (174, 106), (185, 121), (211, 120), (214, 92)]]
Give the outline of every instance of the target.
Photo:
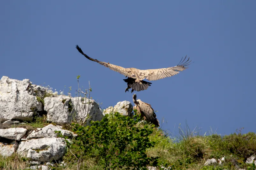
[(40, 138), (22, 141), (17, 153), (35, 161), (59, 160), (66, 152), (63, 138)]

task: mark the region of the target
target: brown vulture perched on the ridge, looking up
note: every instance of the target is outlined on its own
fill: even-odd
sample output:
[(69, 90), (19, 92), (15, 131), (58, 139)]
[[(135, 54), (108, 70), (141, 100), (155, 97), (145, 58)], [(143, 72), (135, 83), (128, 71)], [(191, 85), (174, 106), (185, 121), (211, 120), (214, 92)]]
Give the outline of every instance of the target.
[(159, 121), (151, 105), (141, 101), (140, 99), (137, 100), (136, 94), (133, 94), (132, 98), (135, 104), (135, 106), (133, 106), (133, 110), (136, 109), (137, 112), (141, 114), (141, 118), (144, 118), (144, 120), (149, 121), (150, 123), (153, 123), (156, 127), (158, 127)]

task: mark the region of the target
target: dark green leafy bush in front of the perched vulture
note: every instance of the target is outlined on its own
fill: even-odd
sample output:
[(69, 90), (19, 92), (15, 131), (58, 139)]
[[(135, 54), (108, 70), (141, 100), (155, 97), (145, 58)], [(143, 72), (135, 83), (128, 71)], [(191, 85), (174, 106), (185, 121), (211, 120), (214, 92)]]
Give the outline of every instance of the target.
[(148, 157), (146, 149), (153, 147), (149, 135), (153, 126), (139, 123), (135, 114), (133, 118), (122, 116), (118, 112), (106, 114), (101, 121), (91, 122), (91, 126), (73, 124), (77, 138), (69, 143), (68, 153), (77, 164), (83, 160), (94, 159), (104, 169), (147, 169), (146, 166), (157, 166), (158, 157)]

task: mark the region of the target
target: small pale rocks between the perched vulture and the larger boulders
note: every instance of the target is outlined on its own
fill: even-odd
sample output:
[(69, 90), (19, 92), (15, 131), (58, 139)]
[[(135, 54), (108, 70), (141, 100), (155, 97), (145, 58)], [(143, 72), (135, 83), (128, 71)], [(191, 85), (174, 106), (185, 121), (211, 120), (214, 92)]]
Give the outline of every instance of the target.
[(131, 102), (121, 101), (121, 102), (118, 102), (114, 107), (110, 106), (110, 107), (106, 108), (103, 111), (103, 114), (105, 115), (105, 114), (109, 114), (111, 112), (119, 112), (120, 114), (122, 114), (124, 116), (131, 116), (132, 111), (133, 111), (133, 106), (132, 106)]

